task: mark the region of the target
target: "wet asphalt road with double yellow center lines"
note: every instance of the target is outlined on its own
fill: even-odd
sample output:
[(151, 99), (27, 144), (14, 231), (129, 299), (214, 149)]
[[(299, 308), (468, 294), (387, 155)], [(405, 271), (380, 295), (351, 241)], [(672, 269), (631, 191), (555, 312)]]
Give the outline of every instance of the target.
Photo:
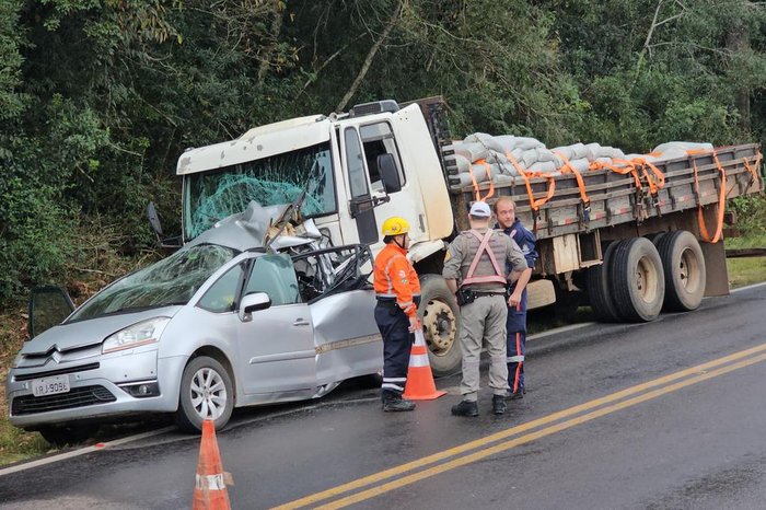
[[(218, 433), (233, 508), (766, 508), (766, 286), (642, 325), (529, 343), (523, 401), (383, 414), (376, 391), (236, 413)], [(483, 368), (486, 371), (486, 367)], [(174, 430), (22, 471), (0, 508), (189, 508), (199, 439)]]

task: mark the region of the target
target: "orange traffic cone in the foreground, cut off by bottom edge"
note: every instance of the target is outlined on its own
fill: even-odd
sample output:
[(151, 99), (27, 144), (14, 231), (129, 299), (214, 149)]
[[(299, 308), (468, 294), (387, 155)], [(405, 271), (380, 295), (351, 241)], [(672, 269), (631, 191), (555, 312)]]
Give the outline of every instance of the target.
[(216, 441), (216, 426), (211, 419), (202, 421), (202, 442), (199, 447), (197, 464), (197, 483), (194, 487), (194, 510), (231, 510), (227, 478), (223, 473), (221, 455)]

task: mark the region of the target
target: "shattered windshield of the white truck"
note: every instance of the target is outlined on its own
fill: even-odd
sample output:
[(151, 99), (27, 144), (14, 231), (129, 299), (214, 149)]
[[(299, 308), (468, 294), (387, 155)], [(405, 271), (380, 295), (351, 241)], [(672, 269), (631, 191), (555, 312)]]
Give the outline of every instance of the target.
[(251, 200), (262, 206), (290, 204), (305, 190), (303, 216), (337, 211), (329, 142), (189, 174), (185, 179), (184, 236), (187, 241), (218, 220), (241, 212)]

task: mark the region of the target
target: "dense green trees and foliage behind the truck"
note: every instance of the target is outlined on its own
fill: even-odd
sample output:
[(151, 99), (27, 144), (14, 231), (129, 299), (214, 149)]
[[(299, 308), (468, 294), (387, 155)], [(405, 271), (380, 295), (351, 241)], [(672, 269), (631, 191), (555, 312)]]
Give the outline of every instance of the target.
[[(187, 147), (441, 94), (457, 135), (647, 151), (759, 141), (766, 5), (745, 0), (0, 0), (0, 302), (150, 246)], [(85, 220), (88, 219), (88, 220)]]

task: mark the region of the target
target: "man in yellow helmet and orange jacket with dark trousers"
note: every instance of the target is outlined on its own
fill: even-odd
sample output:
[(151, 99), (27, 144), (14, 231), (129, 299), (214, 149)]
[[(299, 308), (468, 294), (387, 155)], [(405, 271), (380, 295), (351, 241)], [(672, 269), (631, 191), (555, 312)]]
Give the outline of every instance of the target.
[(392, 217), (383, 222), (385, 247), (375, 257), (374, 288), (378, 304), (375, 322), (383, 336), (384, 412), (413, 410), (415, 403), (402, 398), (407, 383), (409, 353), (414, 332), (420, 327), (416, 315), (420, 300), (420, 281), (407, 260), (409, 223)]

